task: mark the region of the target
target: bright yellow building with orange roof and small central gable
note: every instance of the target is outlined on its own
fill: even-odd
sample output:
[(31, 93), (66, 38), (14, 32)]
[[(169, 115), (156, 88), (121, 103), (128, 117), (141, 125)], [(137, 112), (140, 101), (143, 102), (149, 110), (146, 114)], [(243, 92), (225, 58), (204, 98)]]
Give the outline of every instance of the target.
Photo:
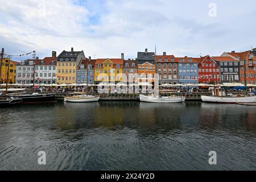
[(94, 82), (120, 82), (123, 80), (123, 59), (97, 59)]

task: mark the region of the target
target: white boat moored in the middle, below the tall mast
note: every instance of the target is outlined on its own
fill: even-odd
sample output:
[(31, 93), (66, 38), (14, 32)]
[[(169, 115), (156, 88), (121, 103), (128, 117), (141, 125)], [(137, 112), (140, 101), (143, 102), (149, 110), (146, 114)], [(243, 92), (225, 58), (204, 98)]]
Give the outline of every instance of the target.
[(154, 97), (139, 95), (139, 100), (142, 102), (153, 102), (153, 103), (179, 103), (184, 102), (185, 97)]

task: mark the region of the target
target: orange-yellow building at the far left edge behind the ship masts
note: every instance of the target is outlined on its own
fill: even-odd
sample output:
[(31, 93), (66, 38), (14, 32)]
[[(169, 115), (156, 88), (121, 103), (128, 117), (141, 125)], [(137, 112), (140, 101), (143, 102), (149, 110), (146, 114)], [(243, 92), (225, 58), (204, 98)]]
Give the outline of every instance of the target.
[[(8, 58), (3, 58), (2, 60), (2, 66), (1, 66), (1, 84), (5, 84), (8, 80), (9, 84), (15, 84), (16, 80), (16, 64), (18, 62), (16, 61), (10, 61), (10, 67), (9, 67), (9, 59)], [(7, 71), (9, 67), (9, 78), (7, 79)]]

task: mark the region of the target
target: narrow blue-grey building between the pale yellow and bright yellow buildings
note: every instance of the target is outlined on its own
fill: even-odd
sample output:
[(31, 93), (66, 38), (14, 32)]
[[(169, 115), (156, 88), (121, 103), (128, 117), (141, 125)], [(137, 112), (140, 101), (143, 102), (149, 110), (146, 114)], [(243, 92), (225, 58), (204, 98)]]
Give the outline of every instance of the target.
[(96, 60), (85, 59), (82, 60), (79, 67), (77, 67), (76, 78), (77, 84), (94, 84), (94, 65)]

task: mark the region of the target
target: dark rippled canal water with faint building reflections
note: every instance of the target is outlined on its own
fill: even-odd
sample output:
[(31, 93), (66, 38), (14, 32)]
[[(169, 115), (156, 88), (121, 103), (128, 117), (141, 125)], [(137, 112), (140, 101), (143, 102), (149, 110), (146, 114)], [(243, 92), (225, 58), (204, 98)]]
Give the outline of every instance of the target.
[(0, 108), (0, 170), (255, 170), (255, 117), (254, 106), (203, 102)]

